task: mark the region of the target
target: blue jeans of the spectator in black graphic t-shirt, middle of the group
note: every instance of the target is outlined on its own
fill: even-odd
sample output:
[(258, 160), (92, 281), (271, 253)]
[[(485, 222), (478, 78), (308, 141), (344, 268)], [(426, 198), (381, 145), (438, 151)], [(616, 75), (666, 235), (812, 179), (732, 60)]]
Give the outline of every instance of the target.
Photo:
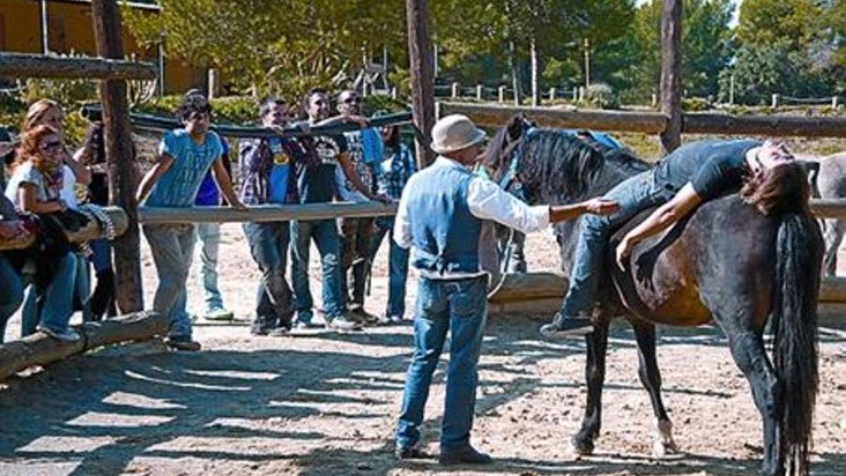
[(295, 221), (291, 224), (291, 280), (294, 282), (294, 296), (297, 301), (297, 318), (305, 322), (310, 319), (314, 300), (309, 289), (309, 246), (311, 239), (320, 252), (323, 271), (323, 309), (329, 319), (346, 311), (341, 296), (340, 239), (335, 220)]

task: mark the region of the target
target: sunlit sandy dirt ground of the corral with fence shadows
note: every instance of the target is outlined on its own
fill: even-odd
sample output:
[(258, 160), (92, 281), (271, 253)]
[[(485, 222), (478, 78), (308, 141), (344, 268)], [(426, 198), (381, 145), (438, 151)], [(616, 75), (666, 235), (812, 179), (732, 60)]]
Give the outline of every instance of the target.
[[(223, 230), (221, 288), (239, 320), (198, 321), (198, 353), (166, 351), (157, 342), (118, 346), (9, 380), (0, 386), (0, 474), (740, 476), (759, 468), (761, 419), (722, 333), (707, 327), (661, 330), (658, 358), (677, 455), (651, 456), (651, 406), (636, 374), (634, 335), (620, 325), (611, 339), (596, 455), (574, 457), (568, 442), (584, 407), (584, 344), (541, 340), (544, 315), (492, 318), (486, 331), (473, 441), (497, 463), (397, 462), (391, 434), (410, 326), (250, 337), (258, 274), (239, 227)], [(551, 236), (531, 236), (530, 268), (554, 269), (554, 249)], [(385, 254), (383, 247), (368, 304), (374, 313), (387, 295)], [(146, 249), (143, 270), (149, 303), (156, 278)], [(196, 275), (189, 290), (190, 309), (199, 313)], [(316, 280), (312, 290), (319, 299)], [(414, 298), (412, 279), (409, 303)], [(821, 328), (819, 476), (846, 474), (846, 320), (840, 322)], [(18, 318), (8, 328), (14, 338)], [(443, 380), (439, 368), (424, 428), (431, 452)]]

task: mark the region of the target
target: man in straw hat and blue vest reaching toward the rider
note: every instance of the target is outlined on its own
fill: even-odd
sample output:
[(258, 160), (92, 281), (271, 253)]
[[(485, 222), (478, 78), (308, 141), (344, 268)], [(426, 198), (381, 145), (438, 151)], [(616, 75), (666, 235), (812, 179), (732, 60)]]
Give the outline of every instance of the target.
[(420, 424), (448, 330), (452, 332), (442, 423), (442, 464), (492, 462), (470, 446), (476, 364), (487, 317), (488, 274), (481, 267), (482, 220), (528, 233), (582, 213), (613, 213), (614, 202), (593, 199), (556, 207), (529, 207), (491, 180), (472, 174), (485, 132), (464, 115), (449, 115), (431, 130), (439, 157), (409, 180), (399, 201), (393, 238), (411, 248), (420, 274), (415, 309), (415, 353), (405, 382), (396, 433), (399, 459), (426, 457)]

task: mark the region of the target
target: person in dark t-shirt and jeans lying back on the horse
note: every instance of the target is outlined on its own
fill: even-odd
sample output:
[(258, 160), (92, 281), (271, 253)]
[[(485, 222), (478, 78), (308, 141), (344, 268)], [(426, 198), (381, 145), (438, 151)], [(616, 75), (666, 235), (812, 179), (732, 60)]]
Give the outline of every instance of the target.
[(541, 334), (585, 335), (593, 330), (588, 316), (595, 306), (607, 241), (618, 225), (642, 210), (658, 207), (620, 242), (617, 261), (622, 267), (634, 245), (667, 229), (700, 203), (739, 191), (753, 174), (793, 159), (780, 142), (696, 141), (667, 155), (655, 169), (615, 186), (605, 197), (618, 202), (620, 211), (582, 220), (569, 291), (552, 323), (541, 327)]

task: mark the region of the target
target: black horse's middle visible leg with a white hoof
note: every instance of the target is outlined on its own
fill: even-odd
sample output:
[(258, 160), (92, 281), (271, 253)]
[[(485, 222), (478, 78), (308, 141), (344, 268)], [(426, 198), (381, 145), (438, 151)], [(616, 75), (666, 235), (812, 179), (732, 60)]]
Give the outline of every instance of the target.
[(652, 411), (655, 412), (656, 438), (652, 444), (652, 452), (656, 457), (662, 457), (676, 451), (673, 440), (673, 423), (667, 417), (664, 402), (661, 399), (661, 371), (655, 355), (655, 325), (642, 321), (633, 321), (634, 336), (637, 339), (638, 376), (640, 383), (649, 392), (652, 401)]

